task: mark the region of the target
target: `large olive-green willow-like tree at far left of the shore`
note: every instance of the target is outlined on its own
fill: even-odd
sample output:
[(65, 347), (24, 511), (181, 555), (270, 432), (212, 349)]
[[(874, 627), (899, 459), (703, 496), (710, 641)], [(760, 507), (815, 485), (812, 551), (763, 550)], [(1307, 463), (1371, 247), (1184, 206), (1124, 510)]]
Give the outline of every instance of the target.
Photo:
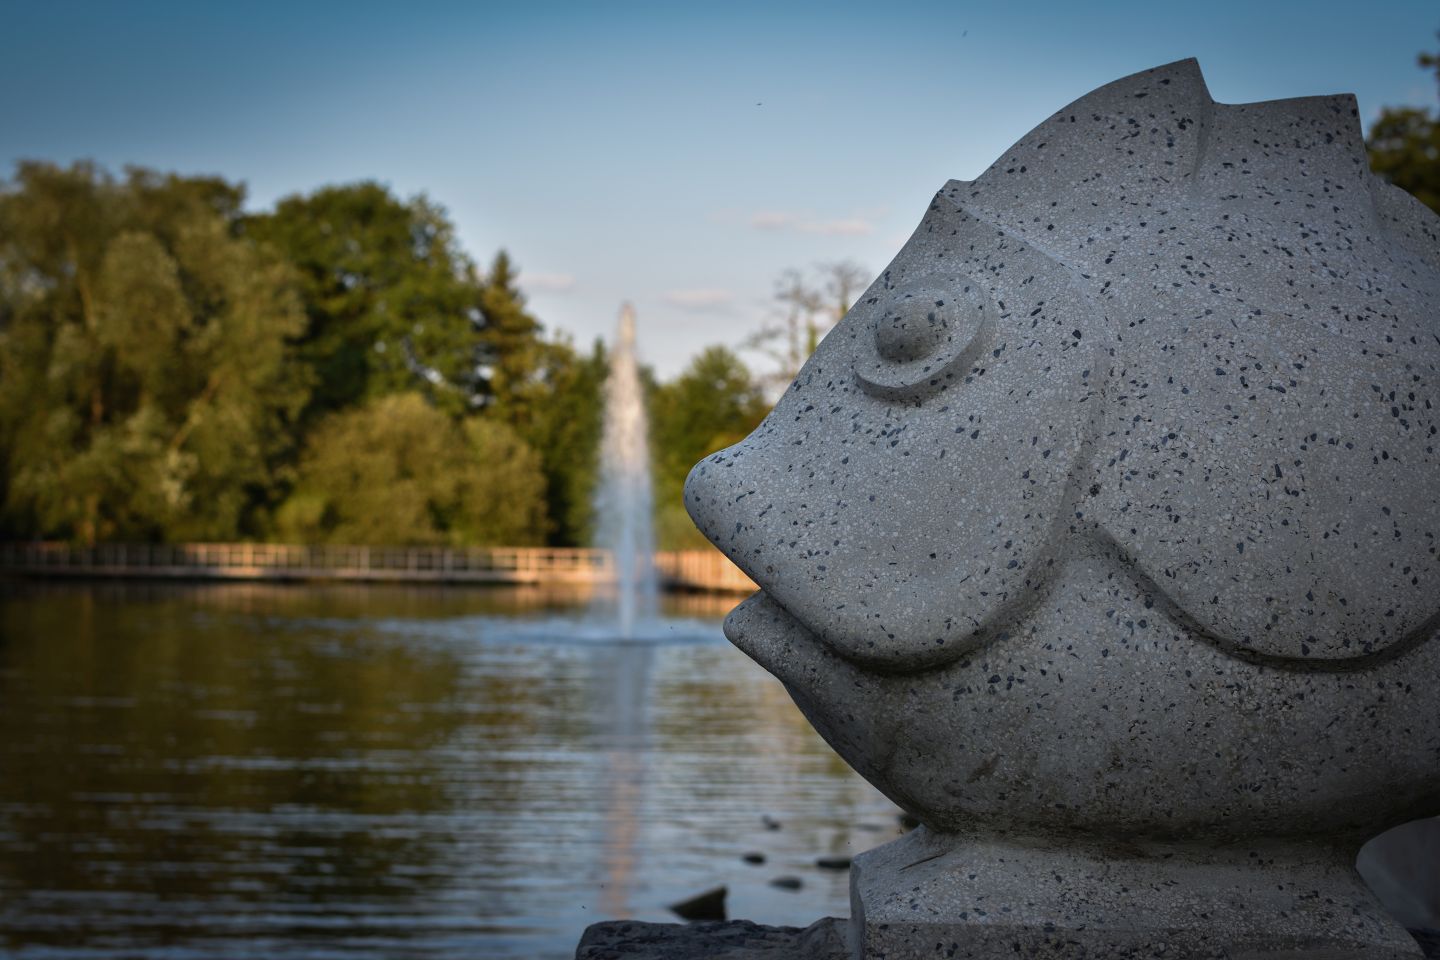
[(239, 187), (22, 163), (0, 191), (6, 533), (235, 538), (264, 527), (307, 400), (289, 268)]

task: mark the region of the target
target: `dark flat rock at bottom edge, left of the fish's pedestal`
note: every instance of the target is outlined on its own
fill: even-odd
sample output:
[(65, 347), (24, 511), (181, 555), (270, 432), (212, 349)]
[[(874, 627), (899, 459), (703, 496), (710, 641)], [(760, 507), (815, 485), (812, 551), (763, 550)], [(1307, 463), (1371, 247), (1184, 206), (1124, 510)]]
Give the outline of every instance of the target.
[(845, 921), (827, 917), (809, 927), (765, 927), (749, 920), (592, 924), (575, 960), (848, 960)]

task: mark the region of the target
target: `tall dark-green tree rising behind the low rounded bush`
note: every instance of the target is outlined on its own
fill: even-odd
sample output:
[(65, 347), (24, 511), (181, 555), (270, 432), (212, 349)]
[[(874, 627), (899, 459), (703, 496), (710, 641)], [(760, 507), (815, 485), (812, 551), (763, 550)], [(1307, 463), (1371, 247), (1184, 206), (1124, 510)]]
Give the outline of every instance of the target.
[(402, 390), (451, 413), (471, 406), (481, 285), (441, 207), (356, 183), (287, 197), (245, 229), (302, 278), (307, 419)]

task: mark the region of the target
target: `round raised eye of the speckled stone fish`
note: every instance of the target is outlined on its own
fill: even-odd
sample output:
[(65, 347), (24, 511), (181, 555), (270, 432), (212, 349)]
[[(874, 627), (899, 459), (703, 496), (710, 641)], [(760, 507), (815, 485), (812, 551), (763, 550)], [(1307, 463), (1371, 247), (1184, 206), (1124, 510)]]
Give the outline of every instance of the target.
[(963, 380), (995, 332), (995, 307), (973, 285), (920, 284), (888, 291), (857, 337), (855, 380), (884, 400), (919, 403)]

